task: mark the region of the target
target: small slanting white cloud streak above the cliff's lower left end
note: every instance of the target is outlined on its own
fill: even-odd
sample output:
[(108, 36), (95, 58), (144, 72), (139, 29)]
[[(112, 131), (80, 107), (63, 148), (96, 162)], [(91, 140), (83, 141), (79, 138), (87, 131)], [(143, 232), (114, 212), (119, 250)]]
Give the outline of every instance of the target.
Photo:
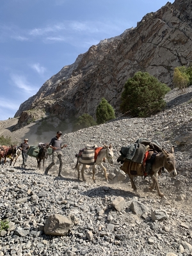
[(22, 93), (28, 93), (30, 96), (36, 93), (37, 89), (33, 86), (33, 84), (29, 84), (29, 82), (26, 80), (26, 77), (19, 76), (17, 74), (11, 74), (11, 79), (13, 84), (22, 90)]

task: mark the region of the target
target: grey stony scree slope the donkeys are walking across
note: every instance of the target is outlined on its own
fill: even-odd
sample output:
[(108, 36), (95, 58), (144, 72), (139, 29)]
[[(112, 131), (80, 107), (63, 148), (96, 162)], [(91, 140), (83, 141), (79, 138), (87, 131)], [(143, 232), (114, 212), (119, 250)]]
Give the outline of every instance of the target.
[[(20, 168), (21, 157), (15, 166), (2, 164), (0, 220), (8, 220), (9, 228), (0, 232), (0, 255), (192, 255), (191, 93), (191, 87), (184, 95), (172, 90), (166, 95), (167, 108), (149, 118), (122, 117), (63, 134), (62, 141), (67, 143), (63, 178), (57, 177), (58, 163), (45, 176), (42, 169), (37, 170), (34, 157), (28, 157), (26, 169)], [(20, 139), (33, 131), (23, 127)], [(49, 136), (50, 140), (54, 134)], [(136, 178), (138, 190), (132, 191), (116, 161), (120, 148), (138, 138), (157, 140), (166, 150), (175, 146), (177, 177), (170, 177), (166, 170), (159, 177), (164, 200), (156, 190), (148, 191), (148, 178)], [(33, 143), (35, 137), (29, 140)], [(104, 163), (109, 182), (99, 168), (95, 184), (90, 170), (85, 172), (87, 181), (78, 182), (75, 154), (86, 144), (103, 143), (112, 143), (114, 151), (114, 164)], [(45, 166), (50, 161), (48, 157)], [(56, 236), (54, 228), (46, 233), (46, 220), (54, 217), (60, 225), (70, 223), (64, 236)]]

